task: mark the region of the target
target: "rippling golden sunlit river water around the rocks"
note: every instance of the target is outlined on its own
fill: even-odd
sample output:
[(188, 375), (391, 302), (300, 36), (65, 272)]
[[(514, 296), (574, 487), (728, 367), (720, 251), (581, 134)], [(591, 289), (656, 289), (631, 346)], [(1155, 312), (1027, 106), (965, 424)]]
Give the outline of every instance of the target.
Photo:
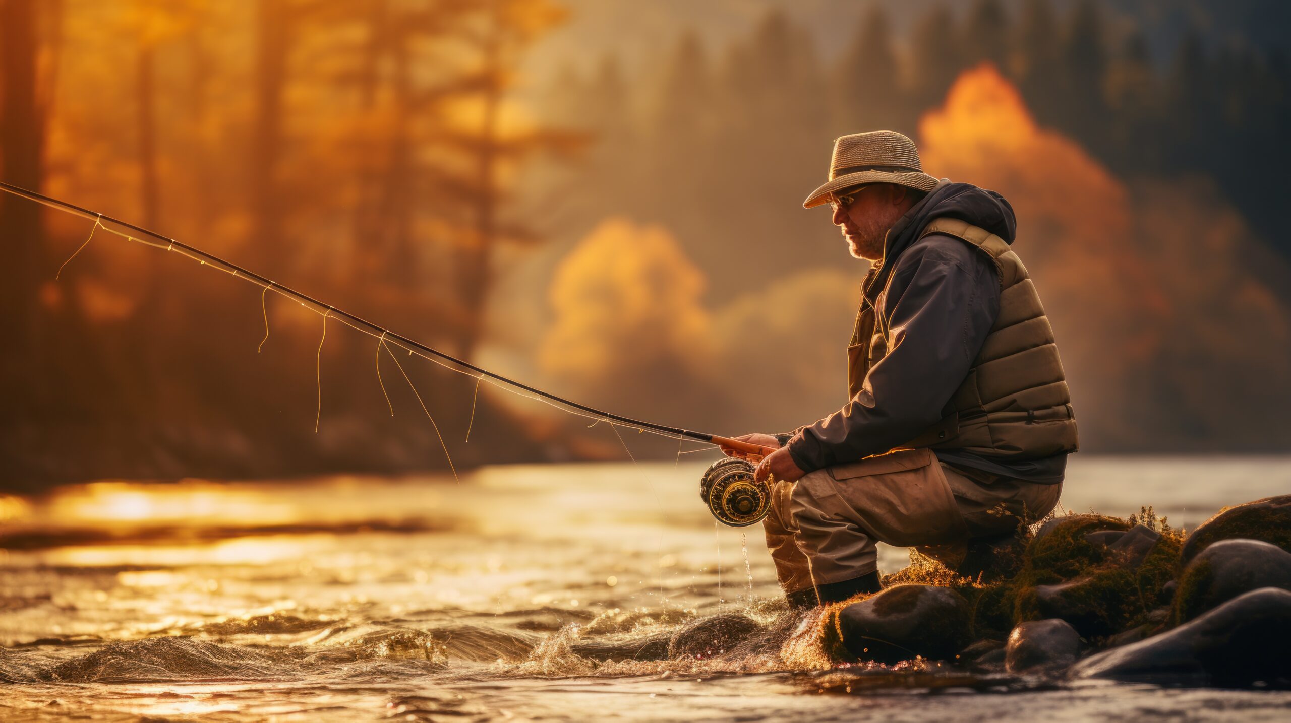
[[(711, 455), (439, 477), (98, 482), (0, 497), (0, 719), (1286, 720), (1291, 692), (822, 669)], [(1065, 509), (1193, 527), (1291, 458), (1073, 458)], [(745, 539), (747, 545), (745, 548)], [(904, 550), (883, 548), (899, 568)], [(718, 612), (760, 647), (600, 662)], [(782, 637), (782, 635), (781, 635)], [(799, 646), (800, 647), (800, 646)]]

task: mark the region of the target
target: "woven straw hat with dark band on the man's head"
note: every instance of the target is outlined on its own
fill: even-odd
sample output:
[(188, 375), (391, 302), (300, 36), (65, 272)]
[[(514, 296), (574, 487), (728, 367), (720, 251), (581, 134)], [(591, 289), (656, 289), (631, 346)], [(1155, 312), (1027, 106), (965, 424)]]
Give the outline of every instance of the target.
[(834, 142), (829, 180), (803, 201), (811, 209), (829, 201), (829, 195), (862, 183), (895, 183), (928, 192), (937, 179), (923, 173), (914, 140), (895, 130), (853, 133)]

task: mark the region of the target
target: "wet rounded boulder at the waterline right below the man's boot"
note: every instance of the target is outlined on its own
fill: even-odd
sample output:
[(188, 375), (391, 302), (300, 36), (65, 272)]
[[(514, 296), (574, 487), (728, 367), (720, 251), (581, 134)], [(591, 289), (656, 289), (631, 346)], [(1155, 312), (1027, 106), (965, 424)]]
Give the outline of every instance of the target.
[(949, 659), (971, 641), (968, 601), (949, 588), (897, 585), (835, 615), (829, 622), (857, 660)]

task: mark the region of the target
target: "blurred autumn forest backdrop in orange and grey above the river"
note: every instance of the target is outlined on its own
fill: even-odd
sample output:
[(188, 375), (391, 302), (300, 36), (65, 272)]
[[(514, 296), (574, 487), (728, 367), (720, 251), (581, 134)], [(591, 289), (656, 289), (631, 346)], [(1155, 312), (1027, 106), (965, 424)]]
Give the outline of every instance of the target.
[[(1017, 210), (1083, 450), (1286, 451), (1288, 24), (1281, 0), (0, 0), (0, 179), (737, 434), (843, 403), (866, 268), (800, 202), (837, 135), (891, 128)], [(56, 281), (90, 226), (0, 198), (0, 486), (447, 467), (365, 335), (320, 348), (320, 316), (103, 231)], [(403, 363), (460, 469), (676, 452)]]

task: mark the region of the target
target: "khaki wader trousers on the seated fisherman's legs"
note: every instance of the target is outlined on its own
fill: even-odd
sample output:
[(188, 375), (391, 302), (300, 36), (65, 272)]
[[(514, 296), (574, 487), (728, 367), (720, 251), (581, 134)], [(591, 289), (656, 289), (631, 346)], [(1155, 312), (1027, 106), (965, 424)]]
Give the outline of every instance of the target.
[(946, 467), (928, 448), (896, 450), (777, 482), (763, 528), (780, 585), (794, 593), (874, 572), (877, 543), (954, 568), (971, 539), (1035, 522), (1061, 491)]

